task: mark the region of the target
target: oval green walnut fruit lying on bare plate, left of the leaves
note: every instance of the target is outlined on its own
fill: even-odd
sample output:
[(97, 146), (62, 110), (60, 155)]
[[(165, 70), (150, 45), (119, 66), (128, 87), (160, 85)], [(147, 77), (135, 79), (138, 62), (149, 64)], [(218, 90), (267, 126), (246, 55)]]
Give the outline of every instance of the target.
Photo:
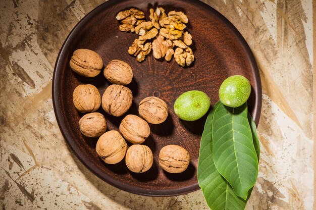
[(202, 91), (190, 90), (182, 93), (175, 101), (176, 115), (185, 121), (194, 121), (205, 115), (210, 106), (209, 97)]

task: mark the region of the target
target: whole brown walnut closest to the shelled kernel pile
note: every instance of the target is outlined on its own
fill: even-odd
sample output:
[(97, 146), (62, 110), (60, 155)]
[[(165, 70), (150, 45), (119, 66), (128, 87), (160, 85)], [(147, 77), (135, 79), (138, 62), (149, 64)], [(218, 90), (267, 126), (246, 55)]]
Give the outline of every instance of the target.
[(133, 79), (133, 71), (124, 61), (113, 60), (104, 68), (104, 77), (113, 84), (127, 85)]

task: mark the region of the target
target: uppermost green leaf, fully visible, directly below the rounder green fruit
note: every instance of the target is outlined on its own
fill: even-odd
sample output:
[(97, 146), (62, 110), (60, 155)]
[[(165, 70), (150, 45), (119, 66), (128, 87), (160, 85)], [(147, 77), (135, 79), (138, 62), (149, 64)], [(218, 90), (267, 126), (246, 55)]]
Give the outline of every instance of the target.
[(237, 108), (219, 103), (214, 109), (212, 130), (215, 166), (234, 192), (246, 200), (258, 175), (247, 103)]

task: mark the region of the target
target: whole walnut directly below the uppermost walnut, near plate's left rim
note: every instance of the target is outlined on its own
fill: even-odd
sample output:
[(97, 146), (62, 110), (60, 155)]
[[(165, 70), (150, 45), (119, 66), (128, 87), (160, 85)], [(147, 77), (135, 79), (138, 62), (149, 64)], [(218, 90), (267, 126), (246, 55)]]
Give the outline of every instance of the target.
[(95, 112), (101, 105), (101, 96), (93, 85), (78, 85), (73, 94), (73, 102), (76, 109), (81, 113)]

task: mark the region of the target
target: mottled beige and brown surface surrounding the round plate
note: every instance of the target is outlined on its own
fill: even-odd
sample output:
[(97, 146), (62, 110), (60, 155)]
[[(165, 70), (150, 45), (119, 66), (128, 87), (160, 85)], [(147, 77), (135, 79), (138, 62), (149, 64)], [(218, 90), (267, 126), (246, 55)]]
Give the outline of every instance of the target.
[[(99, 0), (0, 1), (3, 209), (208, 209), (200, 190), (153, 198), (116, 189), (68, 149), (51, 101), (59, 49)], [(208, 0), (245, 37), (260, 70), (261, 160), (247, 209), (312, 209), (312, 1)]]

